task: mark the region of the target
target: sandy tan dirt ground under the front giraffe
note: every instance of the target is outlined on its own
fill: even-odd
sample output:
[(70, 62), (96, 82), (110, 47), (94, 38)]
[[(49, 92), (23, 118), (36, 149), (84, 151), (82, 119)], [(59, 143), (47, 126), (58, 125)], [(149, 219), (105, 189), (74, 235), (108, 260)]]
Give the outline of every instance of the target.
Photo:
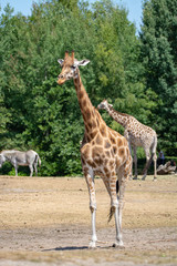
[(112, 247), (110, 197), (95, 180), (97, 247), (88, 249), (91, 214), (83, 177), (0, 176), (0, 266), (177, 265), (177, 175), (129, 181), (124, 248)]

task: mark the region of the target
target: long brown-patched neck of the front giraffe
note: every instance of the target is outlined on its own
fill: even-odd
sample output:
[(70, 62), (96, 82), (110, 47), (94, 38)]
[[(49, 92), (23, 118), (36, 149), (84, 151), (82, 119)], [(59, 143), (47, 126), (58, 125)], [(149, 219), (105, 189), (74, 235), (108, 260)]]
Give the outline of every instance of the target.
[(85, 133), (87, 140), (91, 141), (97, 133), (97, 111), (92, 105), (91, 100), (82, 83), (80, 71), (77, 70), (77, 78), (74, 79), (74, 85), (80, 104), (80, 109), (83, 115)]

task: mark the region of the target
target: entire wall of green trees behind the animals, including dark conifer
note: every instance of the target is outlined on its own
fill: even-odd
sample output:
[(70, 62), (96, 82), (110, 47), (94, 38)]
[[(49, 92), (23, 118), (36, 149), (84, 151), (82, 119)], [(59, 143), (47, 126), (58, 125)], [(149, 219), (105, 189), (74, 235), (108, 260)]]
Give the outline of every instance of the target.
[[(94, 106), (107, 99), (158, 134), (166, 155), (177, 152), (177, 0), (144, 1), (142, 32), (110, 0), (49, 0), (32, 14), (0, 17), (0, 150), (35, 150), (40, 175), (81, 174), (84, 125), (73, 81), (56, 84), (65, 50), (90, 59), (81, 69)], [(106, 112), (103, 119), (123, 134)], [(139, 157), (143, 157), (142, 150)]]

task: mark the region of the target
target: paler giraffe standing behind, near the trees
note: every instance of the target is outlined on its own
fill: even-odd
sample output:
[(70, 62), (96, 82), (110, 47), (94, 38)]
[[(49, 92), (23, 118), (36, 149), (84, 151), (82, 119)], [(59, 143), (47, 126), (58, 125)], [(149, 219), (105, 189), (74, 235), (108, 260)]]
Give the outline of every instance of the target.
[[(143, 171), (143, 178), (146, 178), (148, 167), (150, 166), (152, 160), (154, 160), (154, 181), (156, 180), (156, 147), (157, 147), (157, 135), (156, 132), (147, 126), (138, 122), (134, 116), (119, 113), (113, 109), (112, 104), (108, 104), (106, 100), (103, 100), (98, 105), (98, 109), (104, 109), (108, 112), (108, 114), (121, 125), (124, 126), (124, 136), (128, 141), (129, 151), (132, 154), (132, 146), (134, 150), (134, 164), (135, 164), (135, 177), (137, 178), (137, 155), (136, 150), (137, 146), (142, 146), (145, 151), (146, 155), (146, 165)], [(152, 155), (150, 155), (152, 153)]]

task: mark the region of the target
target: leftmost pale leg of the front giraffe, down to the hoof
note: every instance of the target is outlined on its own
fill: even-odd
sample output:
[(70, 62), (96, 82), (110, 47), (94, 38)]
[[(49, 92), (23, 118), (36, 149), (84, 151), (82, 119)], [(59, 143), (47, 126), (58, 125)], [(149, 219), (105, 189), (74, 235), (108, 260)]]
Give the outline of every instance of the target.
[(92, 222), (92, 239), (88, 247), (96, 247), (97, 236), (96, 236), (96, 197), (95, 197), (95, 187), (94, 187), (94, 174), (93, 170), (88, 170), (85, 175), (85, 181), (90, 194), (90, 209), (91, 209), (91, 222)]

